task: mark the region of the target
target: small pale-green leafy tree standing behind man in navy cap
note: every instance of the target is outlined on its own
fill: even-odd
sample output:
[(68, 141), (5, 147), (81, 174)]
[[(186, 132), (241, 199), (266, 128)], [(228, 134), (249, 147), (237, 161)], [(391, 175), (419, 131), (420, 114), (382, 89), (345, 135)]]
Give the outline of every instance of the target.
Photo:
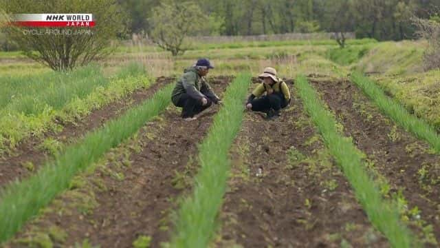
[(187, 49), (185, 38), (203, 30), (207, 17), (192, 1), (164, 1), (153, 8), (151, 38), (173, 56)]

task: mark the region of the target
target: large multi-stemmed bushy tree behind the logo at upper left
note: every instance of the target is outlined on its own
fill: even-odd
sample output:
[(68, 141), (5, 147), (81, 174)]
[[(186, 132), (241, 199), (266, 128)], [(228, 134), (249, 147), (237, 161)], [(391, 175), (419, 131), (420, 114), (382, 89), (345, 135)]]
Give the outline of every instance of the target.
[(3, 32), (24, 54), (53, 70), (72, 70), (109, 55), (111, 40), (124, 32), (123, 17), (115, 0), (0, 0), (0, 9), (16, 13), (92, 13), (94, 28), (3, 27)]

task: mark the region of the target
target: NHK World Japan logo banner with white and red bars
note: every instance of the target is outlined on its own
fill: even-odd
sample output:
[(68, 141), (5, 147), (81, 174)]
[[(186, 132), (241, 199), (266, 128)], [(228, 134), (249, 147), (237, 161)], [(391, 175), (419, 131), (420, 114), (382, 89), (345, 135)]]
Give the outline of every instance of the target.
[(92, 14), (14, 14), (12, 23), (23, 27), (94, 27)]

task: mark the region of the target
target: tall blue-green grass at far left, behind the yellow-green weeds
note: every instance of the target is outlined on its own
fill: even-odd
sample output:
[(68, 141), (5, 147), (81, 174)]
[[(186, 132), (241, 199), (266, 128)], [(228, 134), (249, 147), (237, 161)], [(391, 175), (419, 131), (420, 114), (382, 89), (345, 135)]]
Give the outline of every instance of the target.
[[(121, 68), (115, 79), (142, 74), (146, 74), (142, 65), (131, 63)], [(107, 87), (110, 82), (98, 65), (67, 73), (52, 71), (38, 76), (1, 76), (0, 109), (24, 114), (38, 114), (46, 106), (60, 110), (72, 99), (84, 99), (96, 87)]]

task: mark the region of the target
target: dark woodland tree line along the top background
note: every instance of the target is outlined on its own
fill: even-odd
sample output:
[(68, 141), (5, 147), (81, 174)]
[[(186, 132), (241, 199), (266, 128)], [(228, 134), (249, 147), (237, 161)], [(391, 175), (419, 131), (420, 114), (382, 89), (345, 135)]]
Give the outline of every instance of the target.
[[(118, 0), (131, 32), (150, 34), (162, 3), (178, 0)], [(182, 2), (182, 1), (178, 1)], [(207, 19), (195, 34), (256, 35), (288, 32), (355, 32), (379, 41), (412, 39), (413, 16), (429, 18), (440, 0), (192, 0)], [(157, 8), (159, 7), (159, 8)], [(177, 17), (176, 17), (177, 18)], [(195, 20), (197, 22), (197, 20)]]

